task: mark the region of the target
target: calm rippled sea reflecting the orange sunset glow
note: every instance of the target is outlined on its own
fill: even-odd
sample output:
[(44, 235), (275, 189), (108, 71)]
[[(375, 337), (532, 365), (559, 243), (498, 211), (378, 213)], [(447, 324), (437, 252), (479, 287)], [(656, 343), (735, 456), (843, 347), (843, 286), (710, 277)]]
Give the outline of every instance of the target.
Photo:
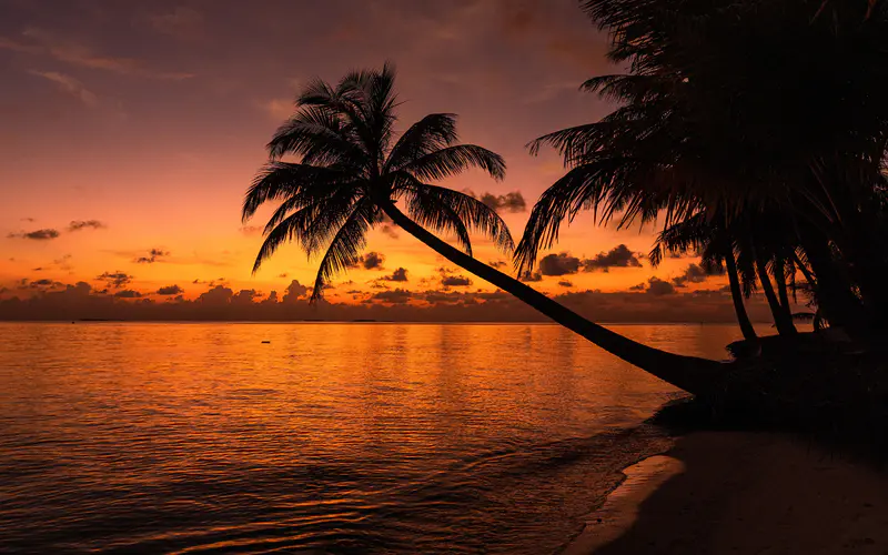
[[(613, 327), (715, 359), (738, 336)], [(3, 553), (553, 553), (678, 394), (555, 325), (0, 334)]]

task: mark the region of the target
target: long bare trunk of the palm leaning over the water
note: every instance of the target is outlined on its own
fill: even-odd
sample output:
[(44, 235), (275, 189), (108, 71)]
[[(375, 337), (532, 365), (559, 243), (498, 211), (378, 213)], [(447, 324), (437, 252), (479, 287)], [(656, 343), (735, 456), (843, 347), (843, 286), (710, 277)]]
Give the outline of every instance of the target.
[(451, 246), (407, 218), (393, 202), (381, 200), (379, 204), (394, 223), (448, 261), (511, 293), (519, 301), (629, 364), (694, 394), (713, 391), (724, 380), (722, 363), (653, 349), (589, 322), (521, 281)]

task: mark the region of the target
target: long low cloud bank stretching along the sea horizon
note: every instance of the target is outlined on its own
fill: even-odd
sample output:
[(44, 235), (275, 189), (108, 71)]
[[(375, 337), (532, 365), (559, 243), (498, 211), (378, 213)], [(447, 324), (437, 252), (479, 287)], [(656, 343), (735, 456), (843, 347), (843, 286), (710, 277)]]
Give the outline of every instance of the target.
[[(656, 283), (656, 281), (653, 281)], [(216, 285), (196, 300), (183, 295), (122, 299), (112, 291), (94, 291), (88, 283), (65, 285), (47, 280), (33, 287), (28, 280), (21, 289), (0, 299), (0, 320), (57, 320), (81, 317), (132, 321), (349, 321), (374, 319), (397, 322), (543, 322), (545, 316), (502, 292), (462, 290), (375, 292), (375, 299), (352, 290), (350, 303), (336, 301), (312, 305), (307, 299), (280, 302), (276, 295), (260, 299), (255, 290), (236, 294)], [(668, 282), (664, 282), (668, 286)], [(647, 285), (650, 285), (648, 283)], [(658, 286), (654, 285), (654, 290)], [(8, 287), (9, 289), (9, 287)], [(128, 289), (129, 290), (129, 289)], [(134, 290), (133, 290), (134, 291)], [(352, 294), (350, 291), (350, 294)], [(137, 291), (138, 292), (138, 291)], [(22, 296), (23, 295), (23, 296)], [(124, 293), (124, 296), (128, 293)], [(730, 295), (718, 291), (653, 295), (647, 293), (603, 293), (574, 289), (554, 295), (555, 301), (581, 315), (606, 322), (735, 322)], [(424, 301), (413, 303), (412, 301)], [(354, 301), (364, 301), (355, 303)], [(370, 302), (366, 302), (370, 301)], [(770, 311), (760, 296), (748, 303), (754, 322), (769, 322)]]

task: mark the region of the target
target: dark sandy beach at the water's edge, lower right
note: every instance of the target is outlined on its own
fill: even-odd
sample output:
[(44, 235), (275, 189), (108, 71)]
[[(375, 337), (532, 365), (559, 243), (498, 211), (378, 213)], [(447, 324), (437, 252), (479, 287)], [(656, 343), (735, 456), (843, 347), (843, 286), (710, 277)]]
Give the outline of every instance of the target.
[(694, 433), (625, 473), (566, 554), (888, 554), (888, 473), (794, 437)]

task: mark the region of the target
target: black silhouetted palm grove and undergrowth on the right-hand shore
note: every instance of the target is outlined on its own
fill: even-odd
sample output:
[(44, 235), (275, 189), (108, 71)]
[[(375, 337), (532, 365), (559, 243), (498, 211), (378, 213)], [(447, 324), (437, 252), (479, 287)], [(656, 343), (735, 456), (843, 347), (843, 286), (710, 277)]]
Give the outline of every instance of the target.
[[(532, 210), (518, 269), (585, 210), (619, 226), (656, 222), (652, 261), (693, 250), (710, 270), (724, 265), (747, 346), (758, 347), (722, 369), (712, 407), (868, 426), (884, 443), (874, 424), (888, 416), (888, 2), (582, 7), (625, 71), (583, 85), (615, 103), (609, 114), (531, 143), (555, 148), (567, 172)], [(755, 289), (776, 337), (749, 325), (743, 296)], [(814, 334), (793, 323), (797, 292), (817, 310)]]

